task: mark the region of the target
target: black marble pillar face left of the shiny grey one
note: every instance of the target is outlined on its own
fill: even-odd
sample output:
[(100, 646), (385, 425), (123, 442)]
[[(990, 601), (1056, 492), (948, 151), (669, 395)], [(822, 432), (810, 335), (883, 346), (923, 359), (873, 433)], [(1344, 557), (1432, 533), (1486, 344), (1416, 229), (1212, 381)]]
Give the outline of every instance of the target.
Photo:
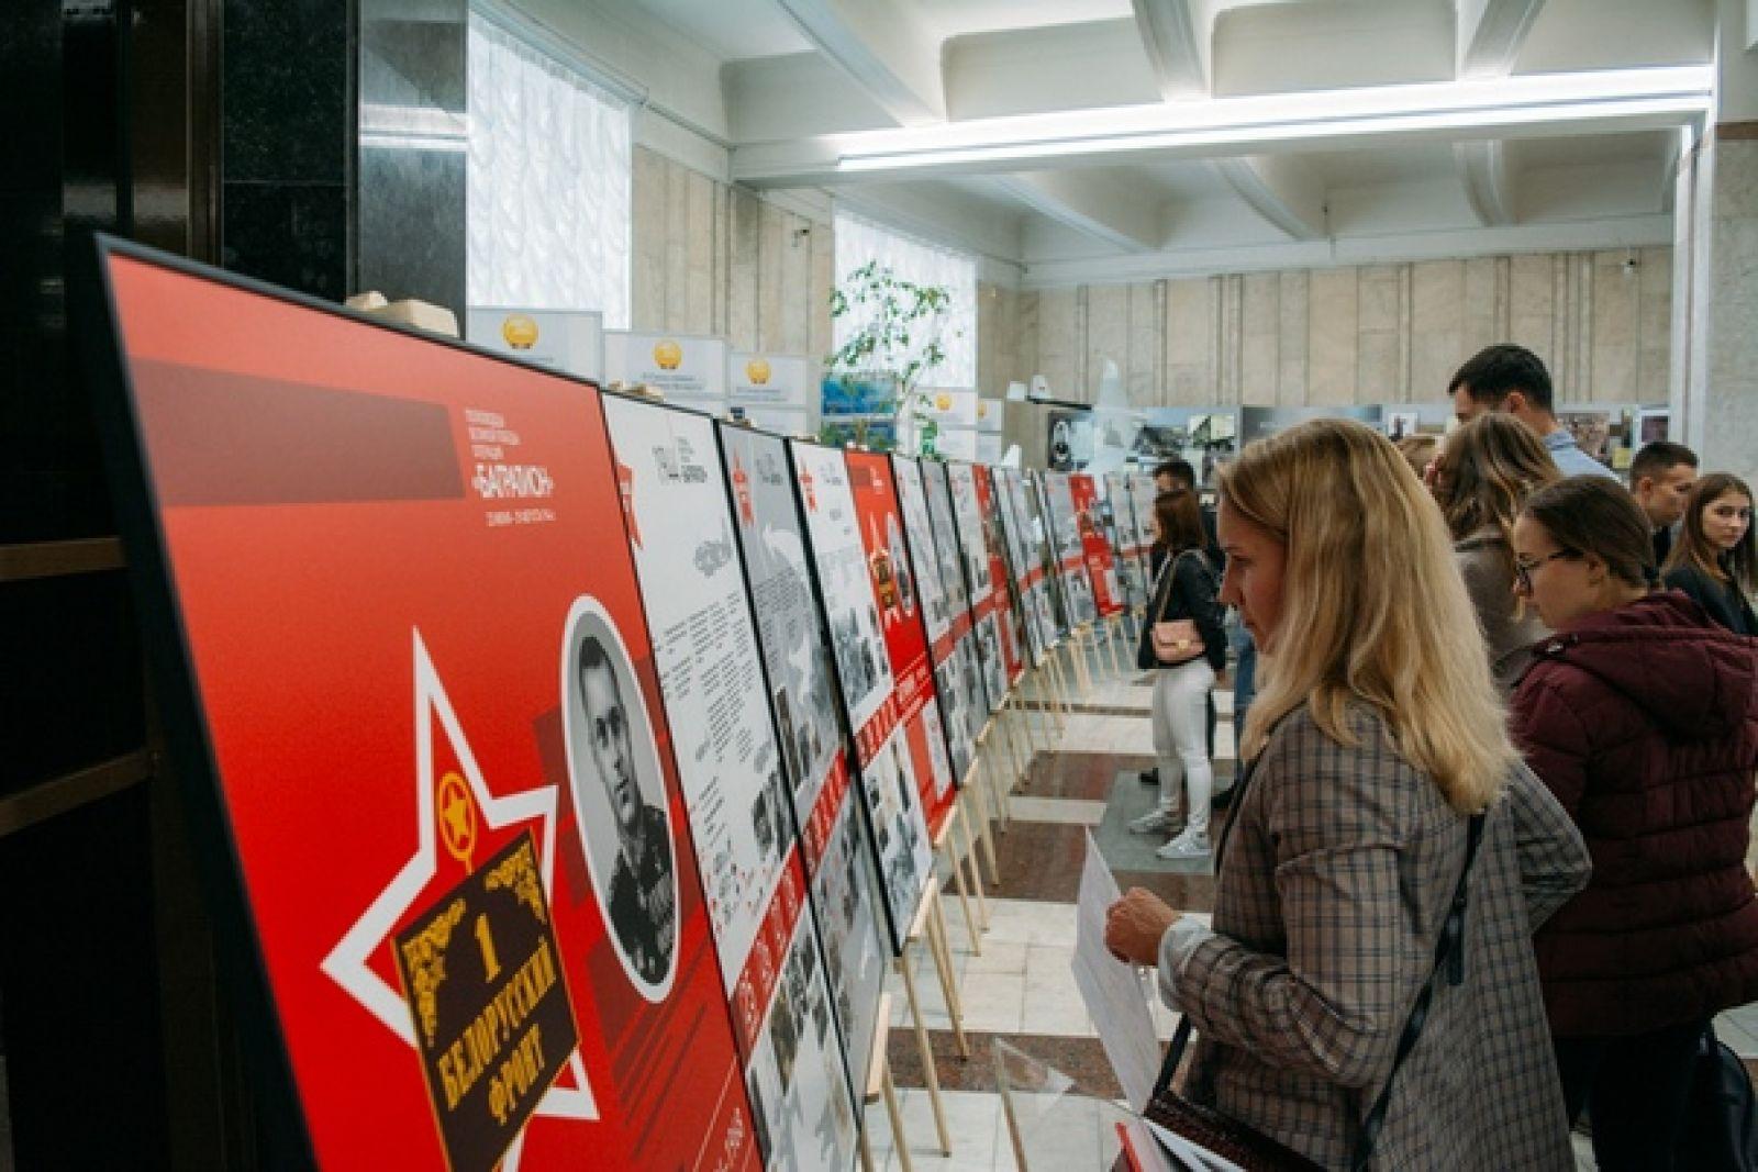
[(353, 5), (225, 0), (220, 264), (341, 300), (353, 292)]

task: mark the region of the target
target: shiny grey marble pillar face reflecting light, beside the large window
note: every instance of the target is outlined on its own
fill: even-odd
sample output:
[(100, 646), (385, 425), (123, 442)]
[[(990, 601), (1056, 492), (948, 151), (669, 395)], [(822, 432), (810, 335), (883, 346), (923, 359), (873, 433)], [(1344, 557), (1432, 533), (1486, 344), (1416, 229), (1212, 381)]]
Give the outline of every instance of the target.
[(357, 290), (447, 306), (464, 325), (464, 0), (357, 0)]

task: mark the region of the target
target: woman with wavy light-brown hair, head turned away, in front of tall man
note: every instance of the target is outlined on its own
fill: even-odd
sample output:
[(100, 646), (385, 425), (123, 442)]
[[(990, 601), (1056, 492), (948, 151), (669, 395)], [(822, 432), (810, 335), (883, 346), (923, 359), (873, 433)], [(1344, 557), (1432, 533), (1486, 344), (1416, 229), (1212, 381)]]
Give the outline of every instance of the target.
[(1526, 497), (1561, 478), (1544, 441), (1512, 415), (1464, 423), (1435, 466), (1435, 499), (1503, 698), (1531, 662), (1531, 645), (1549, 634), (1538, 611), (1514, 596), (1514, 518)]

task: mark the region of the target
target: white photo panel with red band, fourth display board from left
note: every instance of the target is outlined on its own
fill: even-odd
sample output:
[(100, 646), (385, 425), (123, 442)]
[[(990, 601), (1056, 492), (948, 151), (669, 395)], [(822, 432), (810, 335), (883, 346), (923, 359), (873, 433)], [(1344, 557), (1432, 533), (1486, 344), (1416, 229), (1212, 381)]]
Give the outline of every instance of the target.
[(830, 626), (837, 691), (854, 745), (891, 949), (902, 952), (909, 917), (933, 873), (918, 780), (919, 771), (932, 770), (928, 745), (912, 742), (902, 720), (905, 705), (895, 687), (875, 568), (861, 539), (863, 518), (854, 506), (847, 457), (837, 448), (798, 441), (788, 443), (788, 455), (805, 513), (817, 597)]

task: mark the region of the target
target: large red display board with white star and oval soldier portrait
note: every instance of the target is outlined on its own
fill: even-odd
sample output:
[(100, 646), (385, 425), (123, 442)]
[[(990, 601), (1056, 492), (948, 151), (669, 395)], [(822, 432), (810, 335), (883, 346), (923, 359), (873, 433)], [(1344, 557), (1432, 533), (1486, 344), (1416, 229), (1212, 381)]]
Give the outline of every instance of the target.
[(100, 248), (90, 371), (267, 1142), (758, 1168), (598, 392)]

